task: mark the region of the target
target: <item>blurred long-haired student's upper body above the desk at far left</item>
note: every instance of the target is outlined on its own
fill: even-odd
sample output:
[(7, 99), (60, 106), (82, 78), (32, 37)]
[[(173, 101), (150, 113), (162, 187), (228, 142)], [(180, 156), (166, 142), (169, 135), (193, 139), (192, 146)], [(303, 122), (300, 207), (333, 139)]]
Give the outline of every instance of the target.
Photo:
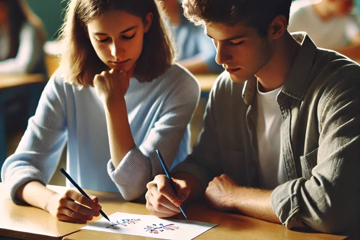
[(0, 73), (46, 73), (45, 30), (22, 0), (0, 0)]

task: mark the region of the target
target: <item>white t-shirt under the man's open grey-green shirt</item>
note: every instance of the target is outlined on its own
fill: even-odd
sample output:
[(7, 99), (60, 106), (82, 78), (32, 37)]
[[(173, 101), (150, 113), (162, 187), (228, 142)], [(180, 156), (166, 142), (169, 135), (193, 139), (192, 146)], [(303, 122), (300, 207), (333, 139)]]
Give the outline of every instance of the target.
[(274, 189), (287, 182), (281, 154), (281, 112), (276, 97), (282, 87), (270, 92), (260, 92), (257, 83), (257, 144), (260, 187)]

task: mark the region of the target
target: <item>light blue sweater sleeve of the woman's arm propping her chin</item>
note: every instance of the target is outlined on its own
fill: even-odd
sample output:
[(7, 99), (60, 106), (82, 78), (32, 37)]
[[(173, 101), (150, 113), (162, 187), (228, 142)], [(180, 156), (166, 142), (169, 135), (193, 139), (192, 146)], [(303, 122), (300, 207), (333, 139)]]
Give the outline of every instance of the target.
[[(114, 168), (108, 162), (108, 173), (123, 198), (130, 201), (146, 192), (146, 185), (156, 175), (163, 173), (157, 158), (159, 149), (167, 167), (175, 159), (184, 132), (199, 100), (199, 85), (188, 74), (180, 75), (184, 81), (169, 91), (157, 121), (140, 146), (134, 146)], [(165, 81), (165, 79), (164, 79)]]

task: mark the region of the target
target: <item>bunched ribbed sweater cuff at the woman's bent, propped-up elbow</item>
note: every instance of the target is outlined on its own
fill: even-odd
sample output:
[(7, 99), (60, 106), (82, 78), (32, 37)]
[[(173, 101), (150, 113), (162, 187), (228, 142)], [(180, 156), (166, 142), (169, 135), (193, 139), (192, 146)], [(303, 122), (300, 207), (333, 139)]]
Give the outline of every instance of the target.
[(149, 159), (137, 146), (130, 149), (116, 169), (111, 159), (108, 162), (109, 176), (127, 201), (137, 199), (145, 193), (150, 181), (150, 171)]

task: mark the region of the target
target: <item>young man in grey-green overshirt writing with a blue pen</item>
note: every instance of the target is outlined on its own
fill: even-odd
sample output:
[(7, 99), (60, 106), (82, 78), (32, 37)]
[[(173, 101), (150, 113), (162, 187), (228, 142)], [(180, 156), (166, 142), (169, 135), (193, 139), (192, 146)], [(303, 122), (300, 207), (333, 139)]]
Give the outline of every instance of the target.
[[(322, 232), (360, 210), (360, 67), (287, 31), (291, 0), (185, 0), (226, 72), (210, 94), (198, 145), (149, 182), (159, 217), (204, 196), (219, 210)], [(161, 149), (160, 149), (161, 150)]]

